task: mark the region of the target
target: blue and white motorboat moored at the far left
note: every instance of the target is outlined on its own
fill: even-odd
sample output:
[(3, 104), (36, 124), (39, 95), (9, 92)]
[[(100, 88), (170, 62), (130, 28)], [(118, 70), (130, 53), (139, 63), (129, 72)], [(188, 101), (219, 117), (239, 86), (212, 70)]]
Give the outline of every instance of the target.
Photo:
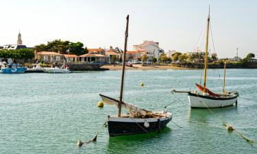
[(6, 62), (2, 62), (0, 65), (1, 65), (0, 73), (7, 73), (7, 74), (25, 73), (25, 71), (27, 70), (27, 68), (21, 67), (20, 64), (14, 64), (14, 63), (6, 64)]

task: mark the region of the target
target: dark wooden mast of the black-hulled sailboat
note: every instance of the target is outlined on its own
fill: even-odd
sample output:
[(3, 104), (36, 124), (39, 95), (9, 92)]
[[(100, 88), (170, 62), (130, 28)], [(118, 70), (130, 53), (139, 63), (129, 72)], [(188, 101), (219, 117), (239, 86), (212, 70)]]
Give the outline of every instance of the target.
[(128, 23), (129, 23), (130, 16), (127, 15), (127, 25), (126, 25), (126, 31), (125, 31), (125, 44), (124, 44), (124, 51), (123, 51), (123, 65), (122, 65), (122, 74), (121, 74), (121, 91), (119, 94), (119, 112), (118, 117), (121, 117), (121, 103), (122, 103), (122, 97), (123, 97), (123, 85), (124, 85), (124, 74), (125, 74), (125, 60), (126, 60), (126, 51), (127, 51), (127, 36), (128, 36)]

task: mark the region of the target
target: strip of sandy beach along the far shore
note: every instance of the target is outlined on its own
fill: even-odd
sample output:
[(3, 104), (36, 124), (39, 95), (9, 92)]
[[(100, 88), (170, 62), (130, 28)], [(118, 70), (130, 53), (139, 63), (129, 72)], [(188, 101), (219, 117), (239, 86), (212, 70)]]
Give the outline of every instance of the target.
[[(109, 70), (121, 70), (122, 66), (104, 65), (104, 66), (101, 66), (101, 68), (108, 68)], [(184, 70), (188, 68), (175, 67), (175, 66), (141, 66), (140, 64), (133, 64), (133, 67), (126, 66), (126, 70), (168, 70), (168, 69)]]

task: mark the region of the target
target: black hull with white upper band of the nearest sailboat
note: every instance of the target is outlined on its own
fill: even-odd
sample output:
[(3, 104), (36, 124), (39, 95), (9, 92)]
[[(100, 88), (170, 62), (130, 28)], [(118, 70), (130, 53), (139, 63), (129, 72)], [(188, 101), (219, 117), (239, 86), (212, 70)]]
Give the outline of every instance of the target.
[[(160, 131), (171, 121), (172, 114), (162, 118), (119, 118), (117, 116), (108, 117), (109, 136), (126, 136), (138, 133), (148, 133)], [(145, 127), (145, 121), (149, 127)]]

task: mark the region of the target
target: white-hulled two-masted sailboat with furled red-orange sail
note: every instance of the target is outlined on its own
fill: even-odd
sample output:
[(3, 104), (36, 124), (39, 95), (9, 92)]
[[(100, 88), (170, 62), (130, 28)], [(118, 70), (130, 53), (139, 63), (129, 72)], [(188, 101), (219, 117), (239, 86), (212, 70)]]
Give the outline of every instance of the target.
[[(208, 34), (209, 34), (209, 24), (210, 24), (210, 8), (207, 20), (207, 34), (206, 34), (206, 52), (204, 60), (204, 86), (195, 84), (201, 93), (197, 92), (188, 92), (188, 100), (190, 106), (200, 107), (200, 108), (209, 108), (209, 107), (226, 107), (230, 105), (237, 104), (238, 92), (228, 92), (225, 91), (225, 65), (224, 65), (224, 77), (223, 77), (223, 91), (221, 94), (216, 94), (215, 92), (210, 91), (206, 88), (206, 78), (207, 78), (207, 66), (208, 66)], [(173, 92), (181, 92), (173, 90)]]

